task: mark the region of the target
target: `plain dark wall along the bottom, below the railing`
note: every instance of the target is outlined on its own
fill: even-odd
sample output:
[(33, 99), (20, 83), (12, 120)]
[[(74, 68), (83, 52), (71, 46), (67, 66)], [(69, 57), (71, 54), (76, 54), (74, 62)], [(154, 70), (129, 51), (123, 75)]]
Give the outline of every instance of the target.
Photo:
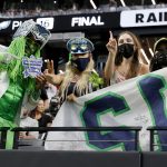
[(167, 153), (0, 150), (2, 167), (166, 167)]

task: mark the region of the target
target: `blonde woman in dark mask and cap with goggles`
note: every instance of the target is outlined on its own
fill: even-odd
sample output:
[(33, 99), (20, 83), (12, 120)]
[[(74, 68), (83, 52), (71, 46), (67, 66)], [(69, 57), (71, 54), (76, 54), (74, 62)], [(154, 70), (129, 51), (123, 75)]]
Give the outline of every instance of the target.
[(69, 61), (65, 73), (46, 73), (50, 84), (60, 86), (60, 104), (65, 100), (75, 101), (76, 97), (97, 90), (102, 85), (102, 79), (94, 70), (92, 42), (86, 38), (73, 38), (67, 42), (67, 49)]

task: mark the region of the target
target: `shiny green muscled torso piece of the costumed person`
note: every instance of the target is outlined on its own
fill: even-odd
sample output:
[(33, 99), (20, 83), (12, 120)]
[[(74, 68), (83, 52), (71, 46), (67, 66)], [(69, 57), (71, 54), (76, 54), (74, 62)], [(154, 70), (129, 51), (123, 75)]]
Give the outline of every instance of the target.
[(22, 104), (24, 95), (23, 86), (21, 81), (18, 80), (17, 84), (10, 81), (10, 85), (0, 98), (0, 117), (10, 121), (14, 121), (18, 109)]

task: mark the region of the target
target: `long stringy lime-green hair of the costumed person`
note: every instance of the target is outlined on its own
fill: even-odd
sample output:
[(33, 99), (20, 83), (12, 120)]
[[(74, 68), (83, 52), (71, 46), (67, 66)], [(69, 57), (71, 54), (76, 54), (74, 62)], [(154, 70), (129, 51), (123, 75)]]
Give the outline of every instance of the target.
[[(27, 91), (35, 90), (35, 79), (33, 78), (23, 78), (23, 67), (22, 67), (22, 58), (24, 57), (24, 48), (26, 48), (26, 37), (14, 38), (13, 41), (8, 47), (7, 52), (14, 55), (18, 59), (11, 60), (8, 65), (2, 63), (0, 66), (0, 71), (7, 70), (9, 78), (13, 82), (21, 81), (22, 86), (27, 89)], [(40, 57), (40, 49), (35, 53), (36, 58)]]

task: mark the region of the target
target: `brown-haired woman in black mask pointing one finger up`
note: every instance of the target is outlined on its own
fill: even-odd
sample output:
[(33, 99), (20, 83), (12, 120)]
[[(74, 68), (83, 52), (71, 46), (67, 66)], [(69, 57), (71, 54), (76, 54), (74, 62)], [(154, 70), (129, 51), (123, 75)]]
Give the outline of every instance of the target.
[(148, 65), (141, 63), (140, 43), (137, 37), (129, 32), (121, 32), (118, 41), (110, 31), (109, 42), (106, 45), (109, 56), (105, 67), (105, 79), (108, 85), (117, 84), (149, 71)]

